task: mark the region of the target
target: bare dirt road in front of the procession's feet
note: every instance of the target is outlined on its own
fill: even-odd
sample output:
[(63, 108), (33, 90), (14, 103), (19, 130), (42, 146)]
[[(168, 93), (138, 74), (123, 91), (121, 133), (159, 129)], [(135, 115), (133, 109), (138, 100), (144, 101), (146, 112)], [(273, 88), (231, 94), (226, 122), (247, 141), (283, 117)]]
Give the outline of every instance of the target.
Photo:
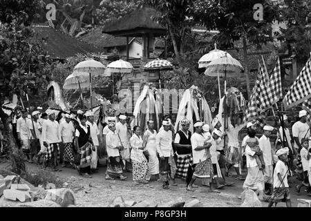
[[(0, 164), (0, 168), (8, 164)], [(37, 171), (39, 166), (36, 164), (26, 163), (28, 170)], [(213, 207), (238, 207), (242, 204), (242, 200), (238, 199), (243, 191), (243, 181), (234, 180), (234, 177), (227, 177), (229, 182), (235, 182), (234, 186), (227, 186), (221, 190), (221, 193), (208, 193), (207, 188), (201, 185), (200, 180), (196, 181), (199, 188), (195, 192), (186, 191), (186, 185), (182, 180), (177, 179), (178, 186), (171, 186), (171, 189), (162, 189), (161, 182), (150, 182), (150, 184), (135, 185), (132, 181), (131, 173), (126, 173), (128, 178), (125, 181), (120, 180), (105, 180), (106, 167), (100, 166), (99, 173), (93, 174), (93, 178), (86, 179), (77, 174), (77, 171), (71, 168), (62, 168), (61, 172), (53, 172), (58, 177), (62, 178), (68, 184), (70, 189), (75, 192), (77, 206), (109, 206), (111, 200), (122, 195), (124, 200), (151, 200), (161, 204), (170, 200), (182, 198), (185, 202), (198, 199), (204, 206)], [(234, 173), (234, 172), (232, 172)], [(296, 207), (297, 198), (311, 199), (302, 190), (301, 195), (297, 196), (294, 193), (294, 186), (299, 181), (295, 177), (291, 188), (292, 206)], [(267, 203), (263, 202), (263, 206)], [(278, 207), (285, 206), (285, 203), (279, 203)]]

